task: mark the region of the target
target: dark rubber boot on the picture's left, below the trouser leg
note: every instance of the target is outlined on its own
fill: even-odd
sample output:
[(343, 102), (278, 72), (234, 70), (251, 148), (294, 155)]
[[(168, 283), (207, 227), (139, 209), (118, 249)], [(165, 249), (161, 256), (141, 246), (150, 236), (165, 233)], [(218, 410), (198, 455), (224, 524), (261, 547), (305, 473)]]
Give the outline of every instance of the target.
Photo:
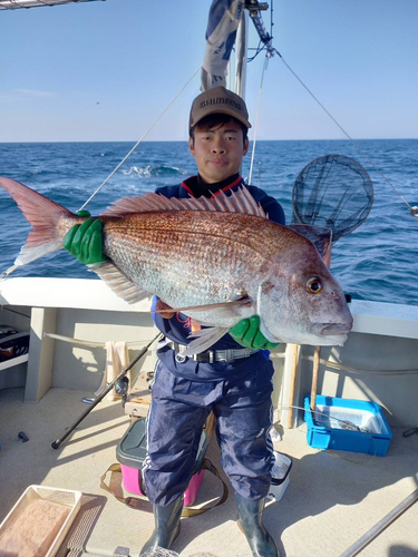
[(152, 537), (142, 548), (139, 557), (152, 557), (158, 547), (169, 549), (179, 534), (179, 519), (183, 510), (183, 497), (179, 497), (167, 507), (153, 505), (155, 529)]

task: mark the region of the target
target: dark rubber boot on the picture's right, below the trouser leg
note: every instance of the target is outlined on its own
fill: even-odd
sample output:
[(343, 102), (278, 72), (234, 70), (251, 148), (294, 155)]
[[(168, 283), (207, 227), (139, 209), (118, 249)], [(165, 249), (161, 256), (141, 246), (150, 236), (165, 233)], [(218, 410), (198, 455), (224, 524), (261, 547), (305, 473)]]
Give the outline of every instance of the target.
[(279, 557), (278, 547), (263, 525), (264, 499), (252, 501), (235, 494), (239, 527), (245, 534), (254, 557)]

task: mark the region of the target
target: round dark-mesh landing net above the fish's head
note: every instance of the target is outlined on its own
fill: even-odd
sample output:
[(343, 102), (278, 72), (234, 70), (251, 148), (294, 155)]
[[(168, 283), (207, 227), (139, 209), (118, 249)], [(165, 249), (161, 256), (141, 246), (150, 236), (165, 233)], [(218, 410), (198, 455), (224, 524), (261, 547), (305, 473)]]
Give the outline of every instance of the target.
[(366, 169), (344, 155), (325, 155), (309, 163), (294, 183), (292, 224), (329, 228), (337, 242), (366, 221), (372, 204)]

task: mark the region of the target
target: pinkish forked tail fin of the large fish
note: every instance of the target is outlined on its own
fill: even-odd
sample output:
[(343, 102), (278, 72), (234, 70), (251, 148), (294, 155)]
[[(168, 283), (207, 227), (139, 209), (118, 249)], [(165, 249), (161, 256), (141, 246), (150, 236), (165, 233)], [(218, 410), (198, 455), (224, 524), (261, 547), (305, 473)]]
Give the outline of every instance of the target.
[(33, 227), (26, 244), (20, 250), (14, 265), (26, 265), (48, 253), (60, 250), (62, 247), (62, 237), (58, 232), (58, 221), (61, 217), (75, 215), (58, 205), (58, 203), (48, 199), (14, 179), (0, 177), (0, 186), (11, 195), (26, 219)]

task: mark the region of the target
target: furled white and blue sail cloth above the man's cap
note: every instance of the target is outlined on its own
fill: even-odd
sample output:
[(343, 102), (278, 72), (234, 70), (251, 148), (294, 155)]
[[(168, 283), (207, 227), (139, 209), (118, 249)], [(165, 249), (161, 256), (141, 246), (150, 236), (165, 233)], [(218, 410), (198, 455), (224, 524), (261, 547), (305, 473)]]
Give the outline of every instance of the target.
[(201, 90), (226, 87), (227, 62), (235, 42), (245, 0), (213, 0), (206, 29)]

